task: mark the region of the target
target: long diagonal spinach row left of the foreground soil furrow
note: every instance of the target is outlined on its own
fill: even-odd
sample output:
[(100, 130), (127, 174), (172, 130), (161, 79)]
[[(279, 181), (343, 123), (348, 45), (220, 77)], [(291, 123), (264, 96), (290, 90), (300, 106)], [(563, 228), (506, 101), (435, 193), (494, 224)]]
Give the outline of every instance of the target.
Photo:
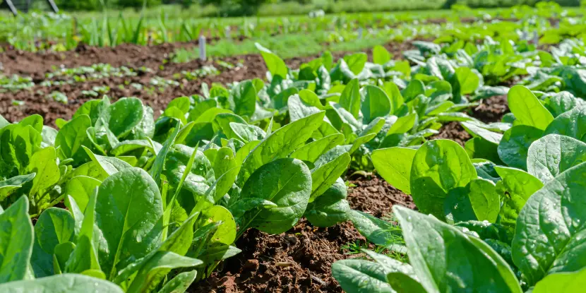
[[(405, 52), (410, 63), (376, 47), (374, 63), (363, 53), (334, 63), (326, 53), (290, 70), (259, 45), (267, 83), (204, 84), (202, 95), (173, 100), (156, 120), (133, 97), (85, 102), (71, 120), (56, 121), (59, 130), (39, 115), (0, 118), (0, 288), (75, 282), (104, 292), (181, 292), (238, 253), (234, 242), (246, 229), (278, 234), (301, 217), (318, 227), (369, 222), (345, 200), (349, 167), (372, 169), (377, 155), (387, 157), (380, 148), (412, 157), (408, 147), (447, 121), (510, 127), (461, 112), (507, 90), (460, 64), (469, 45), (456, 54), (417, 46)], [(474, 59), (484, 56), (475, 48)], [(473, 153), (485, 144), (472, 144)], [(468, 182), (458, 184), (467, 194), (460, 187)], [(416, 199), (421, 210), (425, 202)], [(55, 207), (61, 203), (67, 209)]]

